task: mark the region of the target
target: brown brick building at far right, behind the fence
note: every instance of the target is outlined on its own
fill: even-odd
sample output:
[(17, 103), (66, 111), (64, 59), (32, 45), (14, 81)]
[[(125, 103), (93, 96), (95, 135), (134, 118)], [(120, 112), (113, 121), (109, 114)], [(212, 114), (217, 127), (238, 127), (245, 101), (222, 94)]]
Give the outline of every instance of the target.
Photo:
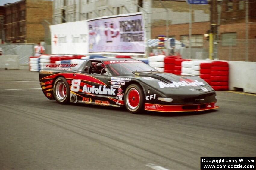
[[(246, 3), (248, 3), (248, 43), (246, 43)], [(256, 61), (256, 0), (210, 1), (211, 24), (218, 24), (220, 13), (218, 58)], [(248, 45), (248, 50), (246, 46)]]

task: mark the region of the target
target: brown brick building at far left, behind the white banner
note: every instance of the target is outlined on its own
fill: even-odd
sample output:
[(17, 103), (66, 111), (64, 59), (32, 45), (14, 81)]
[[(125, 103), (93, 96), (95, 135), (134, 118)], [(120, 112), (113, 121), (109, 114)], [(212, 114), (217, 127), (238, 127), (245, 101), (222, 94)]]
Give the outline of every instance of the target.
[(44, 19), (52, 18), (52, 1), (21, 0), (5, 4), (5, 42), (38, 43), (44, 41)]

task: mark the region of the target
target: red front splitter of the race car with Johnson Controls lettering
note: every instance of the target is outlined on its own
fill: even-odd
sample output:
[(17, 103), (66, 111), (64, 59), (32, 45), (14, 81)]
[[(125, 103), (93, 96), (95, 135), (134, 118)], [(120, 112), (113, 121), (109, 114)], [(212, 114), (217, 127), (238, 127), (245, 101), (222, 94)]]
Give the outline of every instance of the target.
[(145, 110), (156, 112), (196, 112), (217, 109), (219, 106), (215, 106), (216, 102), (204, 103), (204, 104), (189, 104), (189, 105), (161, 105), (145, 103)]

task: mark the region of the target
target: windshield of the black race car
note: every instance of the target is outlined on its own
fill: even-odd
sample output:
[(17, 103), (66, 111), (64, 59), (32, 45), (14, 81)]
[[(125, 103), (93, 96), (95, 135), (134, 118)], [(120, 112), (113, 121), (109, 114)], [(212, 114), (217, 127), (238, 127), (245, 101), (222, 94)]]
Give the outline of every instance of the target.
[(116, 75), (133, 74), (134, 71), (157, 71), (148, 64), (137, 60), (114, 61), (114, 63), (108, 61), (106, 64)]

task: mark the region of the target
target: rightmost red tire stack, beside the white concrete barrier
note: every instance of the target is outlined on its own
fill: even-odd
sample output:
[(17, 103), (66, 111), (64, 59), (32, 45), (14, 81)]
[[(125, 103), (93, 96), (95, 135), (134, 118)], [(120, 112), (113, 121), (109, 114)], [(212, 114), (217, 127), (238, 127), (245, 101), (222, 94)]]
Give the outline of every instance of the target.
[(216, 91), (228, 90), (229, 65), (227, 62), (214, 61), (211, 63), (210, 85)]

